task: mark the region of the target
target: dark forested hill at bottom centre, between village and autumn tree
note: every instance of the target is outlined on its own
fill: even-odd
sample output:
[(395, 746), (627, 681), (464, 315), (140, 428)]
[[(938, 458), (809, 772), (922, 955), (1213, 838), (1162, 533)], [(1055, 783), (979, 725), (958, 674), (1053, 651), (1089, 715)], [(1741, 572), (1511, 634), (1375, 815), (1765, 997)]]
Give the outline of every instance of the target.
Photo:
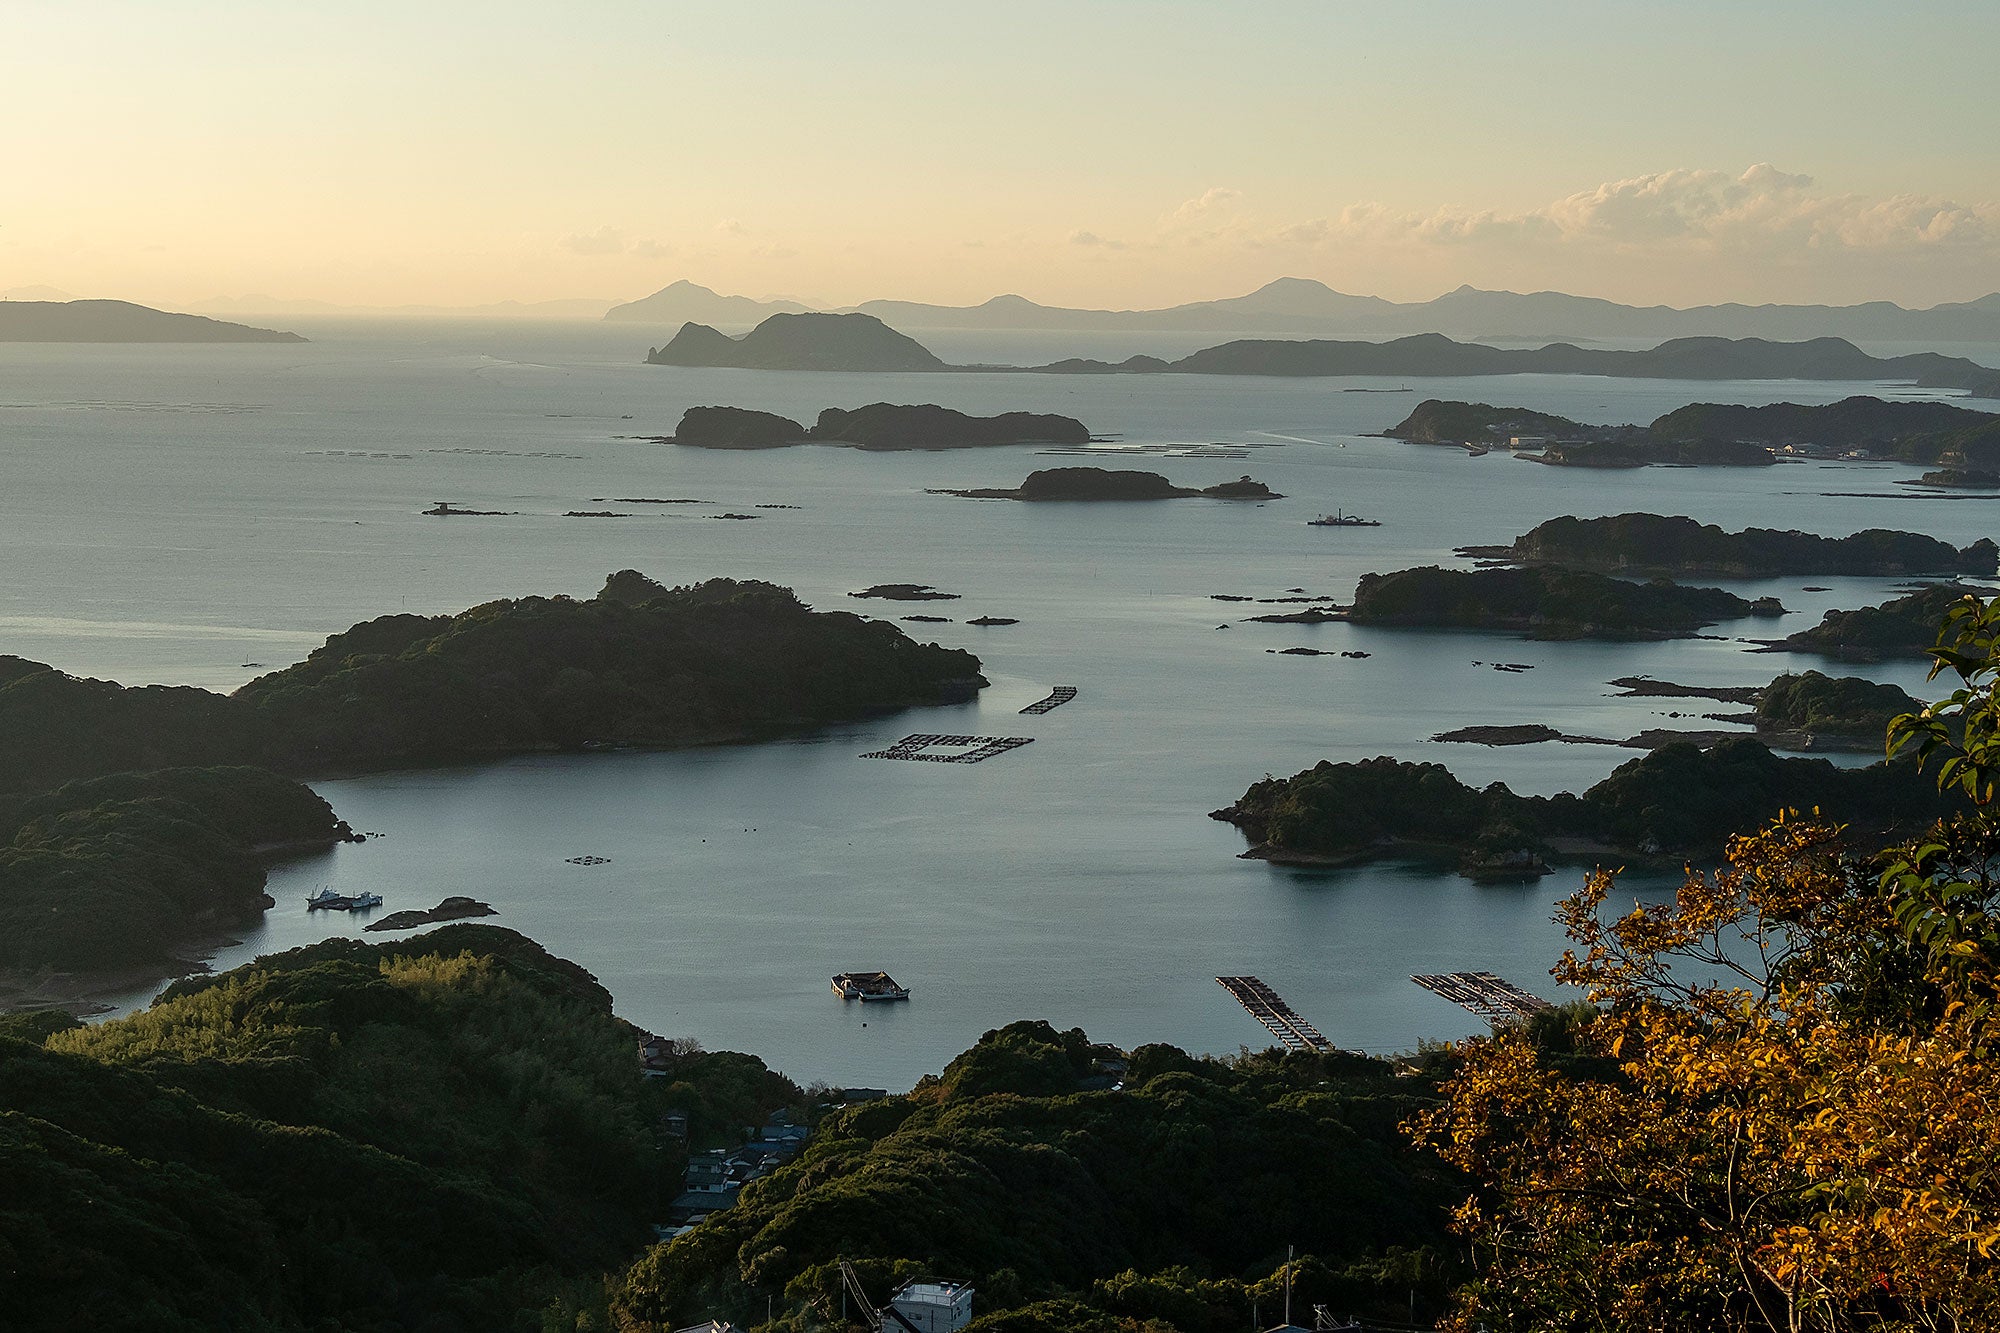
[(978, 1327), (1222, 1333), (1258, 1301), (1276, 1323), (1286, 1245), (1306, 1255), (1300, 1313), (1402, 1313), (1412, 1287), (1436, 1309), (1462, 1187), (1398, 1133), (1426, 1077), (1342, 1053), (1140, 1047), (1122, 1089), (1084, 1091), (1104, 1059), (1124, 1057), (1074, 1029), (986, 1033), (908, 1097), (822, 1121), (798, 1163), (648, 1253), (620, 1315), (762, 1323), (770, 1299), (780, 1327), (822, 1327), (846, 1257), (878, 1297), (920, 1273), (972, 1281)]

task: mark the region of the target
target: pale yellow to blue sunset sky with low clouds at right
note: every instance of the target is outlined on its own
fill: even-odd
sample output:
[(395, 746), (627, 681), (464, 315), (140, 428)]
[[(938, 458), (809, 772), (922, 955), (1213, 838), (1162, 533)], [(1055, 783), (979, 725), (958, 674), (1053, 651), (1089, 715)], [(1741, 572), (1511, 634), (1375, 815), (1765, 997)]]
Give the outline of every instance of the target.
[(0, 0), (0, 290), (2000, 290), (1994, 0)]

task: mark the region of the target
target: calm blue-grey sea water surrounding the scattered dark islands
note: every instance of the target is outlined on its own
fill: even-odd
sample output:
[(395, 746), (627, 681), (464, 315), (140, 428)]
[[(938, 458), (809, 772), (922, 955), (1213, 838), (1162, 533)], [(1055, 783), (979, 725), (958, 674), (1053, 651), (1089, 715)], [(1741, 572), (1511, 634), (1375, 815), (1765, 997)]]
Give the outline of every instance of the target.
[[(1338, 1045), (1368, 1051), (1482, 1027), (1412, 973), (1490, 969), (1560, 997), (1550, 911), (1580, 871), (1476, 887), (1406, 863), (1276, 869), (1240, 861), (1242, 837), (1206, 813), (1266, 773), (1372, 755), (1444, 763), (1476, 785), (1580, 791), (1634, 753), (1430, 737), (1472, 723), (1612, 737), (1712, 727), (1704, 701), (1616, 699), (1606, 683), (1760, 685), (1824, 666), (1750, 652), (1748, 638), (1898, 584), (1730, 582), (1778, 594), (1792, 614), (1664, 644), (1250, 624), (1284, 606), (1214, 594), (1346, 598), (1368, 570), (1454, 562), (1460, 544), (1506, 542), (1564, 512), (1890, 526), (1960, 544), (1994, 530), (1992, 500), (1924, 498), (1896, 484), (1916, 476), (1900, 464), (1586, 472), (1372, 436), (1430, 396), (1642, 422), (1694, 400), (1910, 392), (1866, 384), (790, 374), (644, 366), (648, 330), (622, 326), (294, 326), (314, 342), (0, 346), (0, 556), (12, 574), (0, 652), (128, 685), (232, 689), (356, 620), (590, 596), (630, 566), (670, 584), (768, 578), (820, 608), (950, 616), (904, 628), (978, 652), (994, 685), (970, 705), (770, 745), (316, 783), (376, 837), (274, 869), (278, 907), (214, 967), (360, 933), (362, 919), (308, 917), (304, 895), (320, 885), (380, 891), (386, 911), (462, 893), (596, 973), (634, 1023), (844, 1085), (908, 1087), (980, 1031), (1024, 1017), (1128, 1047), (1264, 1045), (1214, 983), (1230, 973), (1264, 977)], [(1044, 338), (926, 342), (954, 360), (1186, 350)], [(1098, 450), (1112, 462), (1190, 486), (1248, 472), (1286, 498), (960, 500), (930, 490), (1014, 484), (1078, 458), (1028, 446), (708, 452), (644, 438), (696, 404), (810, 420), (872, 400), (1064, 412), (1110, 436)], [(1244, 456), (1180, 456), (1216, 444)], [(510, 512), (424, 516), (436, 500)], [(630, 516), (564, 516), (576, 508)], [(1334, 508), (1382, 526), (1306, 526)], [(958, 600), (848, 596), (876, 582), (928, 582)], [(964, 624), (980, 614), (1020, 622)], [(1276, 652), (1286, 646), (1368, 656)], [(1916, 664), (1844, 671), (1922, 689)], [(1052, 685), (1080, 697), (1018, 713)], [(982, 765), (860, 759), (918, 731), (1034, 743)], [(1634, 877), (1630, 889), (1664, 883)], [(874, 969), (914, 999), (862, 1007), (828, 989), (832, 973)]]

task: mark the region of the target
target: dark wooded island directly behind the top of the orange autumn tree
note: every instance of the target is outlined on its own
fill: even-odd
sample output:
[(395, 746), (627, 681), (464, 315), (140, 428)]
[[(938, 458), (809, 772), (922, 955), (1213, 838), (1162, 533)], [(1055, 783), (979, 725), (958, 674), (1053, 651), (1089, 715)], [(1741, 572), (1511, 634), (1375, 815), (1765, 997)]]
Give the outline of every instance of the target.
[(1782, 759), (1750, 737), (1666, 745), (1620, 765), (1580, 797), (1518, 797), (1502, 783), (1466, 787), (1442, 765), (1398, 759), (1322, 761), (1254, 783), (1214, 819), (1250, 839), (1244, 855), (1296, 865), (1350, 865), (1396, 851), (1446, 849), (1468, 875), (1544, 869), (1544, 857), (1720, 855), (1762, 813), (1814, 811), (1848, 823), (1860, 847), (1966, 809), (1912, 765), (1840, 769)]

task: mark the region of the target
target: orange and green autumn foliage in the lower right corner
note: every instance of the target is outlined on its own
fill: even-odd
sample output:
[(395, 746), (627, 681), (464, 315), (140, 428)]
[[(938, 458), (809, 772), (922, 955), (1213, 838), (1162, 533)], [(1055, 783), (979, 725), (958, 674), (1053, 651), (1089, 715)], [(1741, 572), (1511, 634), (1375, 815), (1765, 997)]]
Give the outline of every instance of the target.
[(1890, 729), (1972, 815), (1874, 859), (1786, 815), (1668, 903), (1616, 915), (1600, 871), (1562, 905), (1566, 1053), (1468, 1043), (1412, 1125), (1480, 1183), (1446, 1327), (2000, 1327), (1996, 638), (1966, 598), (1962, 689)]

